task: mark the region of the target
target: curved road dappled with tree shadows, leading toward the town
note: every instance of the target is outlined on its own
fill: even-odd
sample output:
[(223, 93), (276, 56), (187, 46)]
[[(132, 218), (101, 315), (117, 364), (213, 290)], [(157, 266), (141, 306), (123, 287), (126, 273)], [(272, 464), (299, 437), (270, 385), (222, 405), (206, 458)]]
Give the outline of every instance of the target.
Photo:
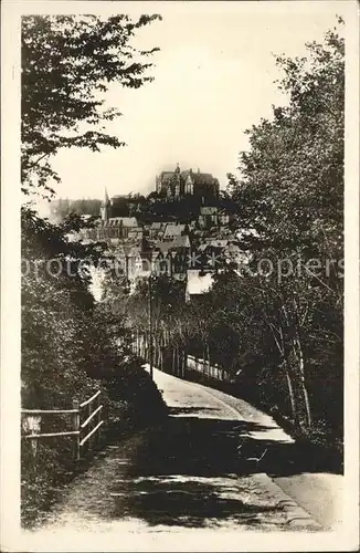
[(304, 482), (301, 493), (284, 492), (300, 478), (295, 445), (271, 417), (159, 371), (155, 379), (170, 408), (167, 424), (99, 452), (67, 487), (49, 522), (25, 532), (28, 551), (86, 551), (96, 540), (114, 551), (151, 544), (157, 550), (159, 535), (186, 539), (189, 531), (194, 544), (203, 531), (219, 536), (239, 530), (317, 532), (329, 525), (329, 514), (311, 509)]

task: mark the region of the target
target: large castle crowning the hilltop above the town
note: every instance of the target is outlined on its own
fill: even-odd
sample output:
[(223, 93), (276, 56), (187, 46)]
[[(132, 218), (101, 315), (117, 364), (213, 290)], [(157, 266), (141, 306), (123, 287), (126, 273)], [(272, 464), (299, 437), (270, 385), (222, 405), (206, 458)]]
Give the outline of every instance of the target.
[(181, 170), (179, 164), (173, 171), (162, 171), (156, 177), (156, 191), (169, 199), (181, 199), (186, 196), (218, 198), (219, 180), (210, 173)]

